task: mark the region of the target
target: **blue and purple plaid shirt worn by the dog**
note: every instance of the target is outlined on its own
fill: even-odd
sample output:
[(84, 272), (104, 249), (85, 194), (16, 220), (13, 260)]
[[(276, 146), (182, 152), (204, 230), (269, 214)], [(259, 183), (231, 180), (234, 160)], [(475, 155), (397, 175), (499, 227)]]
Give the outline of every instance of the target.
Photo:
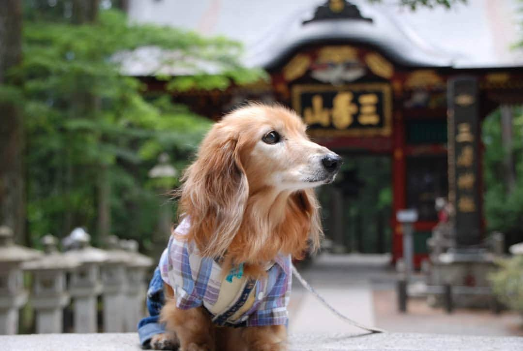
[[(189, 229), (185, 218), (175, 229), (177, 234), (185, 235)], [(261, 326), (287, 324), (287, 304), (292, 283), (290, 255), (278, 255), (267, 271), (267, 277), (246, 280), (242, 292), (228, 307), (212, 321), (218, 325)], [(169, 244), (160, 259), (162, 279), (173, 288), (176, 306), (180, 309), (209, 307), (218, 300), (223, 280), (220, 265), (209, 257), (199, 256), (194, 242), (177, 240), (171, 235)], [(236, 321), (230, 317), (242, 307), (249, 294), (253, 292), (255, 301), (251, 308)]]

